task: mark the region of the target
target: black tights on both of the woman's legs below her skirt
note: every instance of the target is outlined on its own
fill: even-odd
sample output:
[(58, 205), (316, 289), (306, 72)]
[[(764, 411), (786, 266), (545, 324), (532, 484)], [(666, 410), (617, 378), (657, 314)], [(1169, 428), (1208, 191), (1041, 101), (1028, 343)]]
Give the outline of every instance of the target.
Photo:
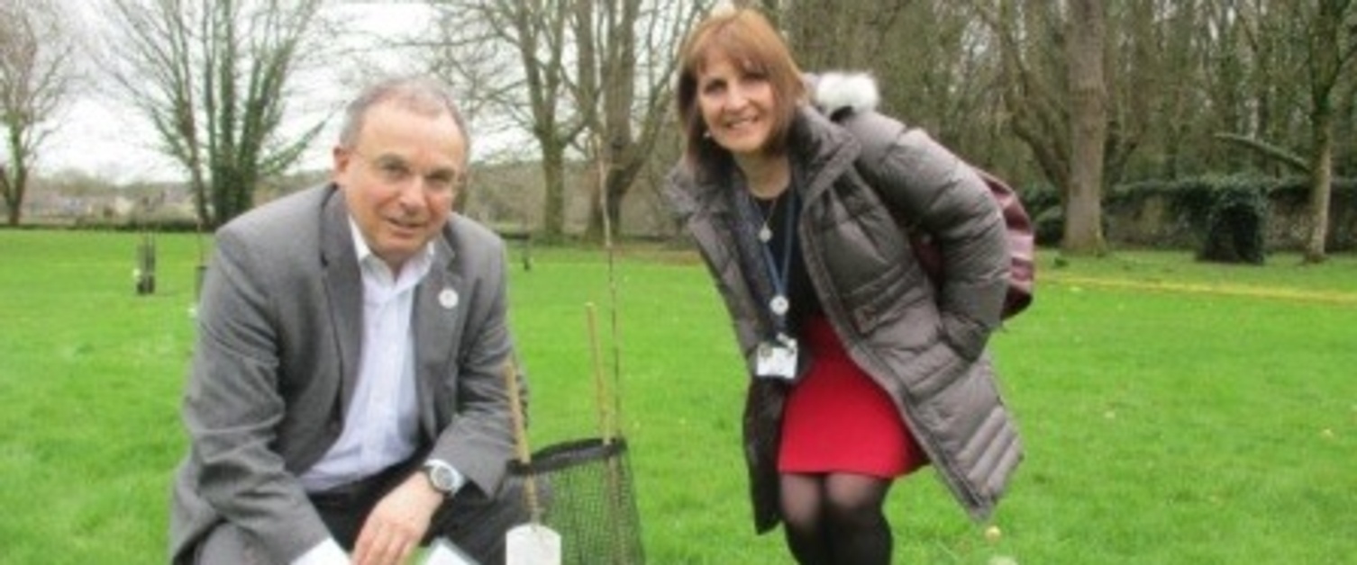
[(787, 547), (802, 565), (889, 565), (882, 503), (892, 481), (863, 474), (783, 474)]

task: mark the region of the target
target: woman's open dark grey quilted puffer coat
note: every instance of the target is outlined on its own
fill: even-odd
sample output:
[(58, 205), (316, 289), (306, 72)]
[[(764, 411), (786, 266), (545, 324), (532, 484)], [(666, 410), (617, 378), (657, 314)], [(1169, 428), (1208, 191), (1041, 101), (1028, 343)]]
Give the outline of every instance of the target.
[[(985, 354), (1008, 270), (997, 206), (947, 149), (867, 108), (830, 122), (805, 107), (790, 135), (802, 179), (794, 188), (805, 203), (798, 248), (826, 318), (890, 394), (958, 503), (985, 519), (1022, 459)], [(771, 321), (748, 280), (767, 274), (745, 272), (740, 260), (734, 186), (680, 164), (666, 196), (712, 274), (745, 355), (745, 455), (754, 527), (764, 532), (782, 519), (776, 451), (787, 385), (753, 377), (754, 348)], [(940, 289), (915, 259), (902, 224), (928, 232), (943, 251)]]

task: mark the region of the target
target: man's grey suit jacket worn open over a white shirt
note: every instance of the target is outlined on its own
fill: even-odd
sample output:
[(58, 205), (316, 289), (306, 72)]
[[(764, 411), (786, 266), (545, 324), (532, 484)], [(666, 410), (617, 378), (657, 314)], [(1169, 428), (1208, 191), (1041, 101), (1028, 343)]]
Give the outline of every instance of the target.
[[(494, 493), (513, 455), (503, 243), (455, 215), (434, 245), (413, 316), (421, 440)], [(451, 308), (445, 290), (457, 297)], [(362, 279), (341, 191), (309, 188), (218, 230), (183, 398), (191, 446), (172, 492), (175, 562), (221, 522), (278, 562), (330, 535), (297, 477), (343, 430), (361, 344)]]

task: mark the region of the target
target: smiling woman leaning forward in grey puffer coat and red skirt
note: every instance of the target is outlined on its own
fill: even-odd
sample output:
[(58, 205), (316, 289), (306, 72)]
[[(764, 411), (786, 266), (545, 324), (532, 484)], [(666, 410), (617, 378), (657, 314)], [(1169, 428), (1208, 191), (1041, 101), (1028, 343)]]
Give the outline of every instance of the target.
[[(889, 564), (882, 503), (932, 465), (977, 520), (1022, 459), (985, 343), (1008, 270), (976, 173), (867, 99), (830, 121), (750, 9), (708, 16), (680, 53), (684, 161), (666, 195), (730, 312), (750, 382), (754, 526), (802, 564)], [(840, 77), (816, 87), (837, 107)], [(851, 81), (849, 81), (851, 83)], [(943, 255), (935, 287), (902, 225)]]

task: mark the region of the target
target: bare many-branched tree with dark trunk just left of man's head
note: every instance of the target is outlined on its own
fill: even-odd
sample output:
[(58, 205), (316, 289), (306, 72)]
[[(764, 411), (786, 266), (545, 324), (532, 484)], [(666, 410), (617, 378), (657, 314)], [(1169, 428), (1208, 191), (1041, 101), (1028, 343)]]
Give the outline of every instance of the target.
[(189, 175), (198, 218), (221, 225), (320, 130), (281, 140), (289, 80), (313, 53), (323, 0), (111, 0), (114, 77)]

